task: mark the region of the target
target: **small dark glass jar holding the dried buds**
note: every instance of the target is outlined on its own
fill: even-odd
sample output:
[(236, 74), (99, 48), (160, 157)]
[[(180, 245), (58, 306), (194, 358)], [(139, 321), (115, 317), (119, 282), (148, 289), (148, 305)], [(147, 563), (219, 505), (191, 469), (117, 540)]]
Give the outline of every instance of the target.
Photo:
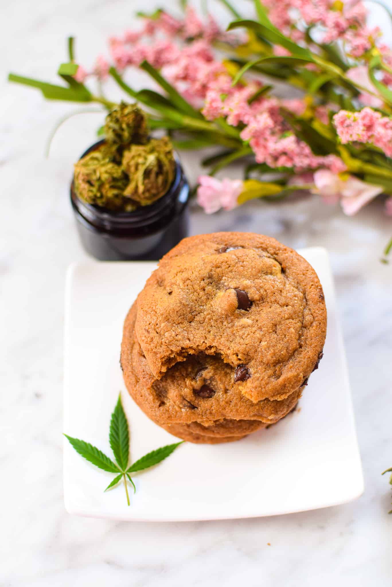
[[(82, 157), (98, 149), (94, 144)], [(76, 227), (85, 250), (100, 261), (160, 259), (187, 235), (189, 184), (176, 156), (176, 176), (155, 203), (133, 212), (113, 212), (78, 198), (71, 184)]]

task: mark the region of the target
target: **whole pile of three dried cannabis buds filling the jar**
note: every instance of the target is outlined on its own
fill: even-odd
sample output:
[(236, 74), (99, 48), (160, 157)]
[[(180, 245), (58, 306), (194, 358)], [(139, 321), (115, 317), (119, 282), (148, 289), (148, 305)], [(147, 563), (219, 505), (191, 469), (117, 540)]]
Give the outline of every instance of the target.
[(75, 164), (73, 185), (88, 204), (132, 212), (166, 194), (175, 173), (169, 139), (149, 140), (143, 110), (121, 102), (106, 116), (105, 142)]

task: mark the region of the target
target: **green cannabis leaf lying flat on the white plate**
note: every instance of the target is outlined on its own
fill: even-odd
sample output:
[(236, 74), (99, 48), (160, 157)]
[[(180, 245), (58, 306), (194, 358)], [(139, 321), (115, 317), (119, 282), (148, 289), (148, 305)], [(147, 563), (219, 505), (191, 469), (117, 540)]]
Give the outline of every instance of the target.
[(130, 502), (127, 480), (133, 487), (133, 493), (136, 492), (135, 483), (133, 483), (132, 477), (130, 477), (129, 473), (136, 473), (136, 471), (142, 471), (160, 463), (160, 461), (163, 461), (166, 457), (172, 454), (177, 446), (183, 443), (183, 441), (181, 441), (157, 448), (156, 450), (145, 454), (144, 457), (139, 458), (139, 460), (135, 461), (133, 465), (129, 465), (129, 427), (121, 403), (121, 394), (119, 395), (118, 402), (112, 413), (109, 429), (110, 448), (112, 448), (117, 464), (113, 463), (106, 454), (102, 453), (99, 448), (96, 448), (92, 444), (85, 442), (84, 440), (79, 440), (79, 438), (72, 438), (72, 436), (68, 436), (68, 434), (64, 434), (64, 436), (68, 438), (73, 448), (75, 448), (76, 452), (83, 458), (103, 471), (116, 474), (116, 477), (110, 481), (105, 491), (115, 487), (120, 481), (124, 481), (126, 501), (128, 502), (128, 505), (130, 505)]

